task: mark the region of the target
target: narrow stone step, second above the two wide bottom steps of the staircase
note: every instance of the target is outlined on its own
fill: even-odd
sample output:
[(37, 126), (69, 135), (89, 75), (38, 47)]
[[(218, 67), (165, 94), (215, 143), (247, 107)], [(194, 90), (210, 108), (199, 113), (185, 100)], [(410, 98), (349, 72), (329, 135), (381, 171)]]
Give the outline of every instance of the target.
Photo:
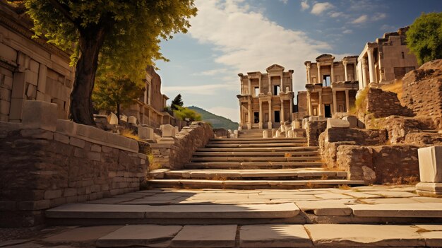
[(295, 162), (295, 161), (320, 161), (321, 158), (320, 157), (282, 157), (282, 158), (277, 158), (277, 157), (265, 157), (265, 158), (253, 158), (253, 157), (249, 157), (249, 158), (237, 158), (237, 157), (233, 157), (233, 158), (210, 158), (210, 157), (205, 157), (205, 158), (191, 158), (191, 162)]

